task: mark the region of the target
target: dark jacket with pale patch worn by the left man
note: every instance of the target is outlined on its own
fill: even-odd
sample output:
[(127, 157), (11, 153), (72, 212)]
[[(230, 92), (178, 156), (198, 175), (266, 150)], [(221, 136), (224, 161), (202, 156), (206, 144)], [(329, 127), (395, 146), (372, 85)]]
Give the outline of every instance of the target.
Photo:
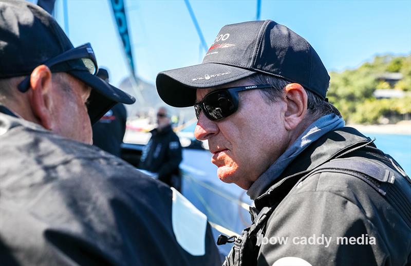
[(204, 243), (193, 255), (175, 192), (121, 159), (4, 113), (0, 138), (0, 264), (220, 263), (207, 222), (183, 232)]

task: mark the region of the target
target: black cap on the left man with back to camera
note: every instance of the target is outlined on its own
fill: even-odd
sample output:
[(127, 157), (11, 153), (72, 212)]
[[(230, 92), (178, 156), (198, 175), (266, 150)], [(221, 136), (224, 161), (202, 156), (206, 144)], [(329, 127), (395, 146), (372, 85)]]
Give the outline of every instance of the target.
[[(30, 75), (35, 67), (73, 48), (59, 24), (41, 7), (20, 0), (0, 2), (0, 79)], [(135, 102), (84, 65), (73, 64), (64, 62), (50, 70), (67, 72), (92, 88), (88, 106), (91, 123), (118, 102)]]

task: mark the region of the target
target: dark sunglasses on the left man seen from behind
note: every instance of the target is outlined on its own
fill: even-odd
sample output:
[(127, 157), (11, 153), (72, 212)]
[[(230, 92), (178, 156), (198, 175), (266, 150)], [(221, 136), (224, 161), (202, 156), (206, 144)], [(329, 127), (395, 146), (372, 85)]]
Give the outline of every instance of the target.
[[(61, 63), (67, 63), (62, 65)], [(60, 67), (58, 66), (59, 64)], [(96, 55), (89, 43), (83, 44), (76, 48), (65, 51), (54, 58), (51, 58), (44, 62), (42, 65), (46, 65), (52, 70), (52, 72), (68, 71), (68, 70), (85, 70), (90, 74), (95, 75), (98, 71)], [(27, 76), (17, 88), (21, 92), (26, 92), (30, 88), (30, 76)]]

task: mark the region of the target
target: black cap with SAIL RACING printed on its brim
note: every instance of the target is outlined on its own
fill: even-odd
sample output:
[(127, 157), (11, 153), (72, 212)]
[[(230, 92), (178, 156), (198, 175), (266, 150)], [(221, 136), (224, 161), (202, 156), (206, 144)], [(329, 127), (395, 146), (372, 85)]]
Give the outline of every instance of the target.
[(174, 107), (192, 106), (196, 89), (266, 73), (301, 84), (325, 99), (330, 77), (314, 48), (274, 21), (226, 25), (201, 64), (158, 73), (157, 91)]

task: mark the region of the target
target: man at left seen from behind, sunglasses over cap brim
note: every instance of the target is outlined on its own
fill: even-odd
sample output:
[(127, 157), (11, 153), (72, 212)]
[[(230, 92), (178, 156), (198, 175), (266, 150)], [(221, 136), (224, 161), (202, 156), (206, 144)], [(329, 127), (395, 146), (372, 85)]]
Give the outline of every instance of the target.
[(97, 70), (43, 9), (0, 1), (0, 264), (218, 264), (204, 214), (89, 145), (91, 123), (134, 102)]

